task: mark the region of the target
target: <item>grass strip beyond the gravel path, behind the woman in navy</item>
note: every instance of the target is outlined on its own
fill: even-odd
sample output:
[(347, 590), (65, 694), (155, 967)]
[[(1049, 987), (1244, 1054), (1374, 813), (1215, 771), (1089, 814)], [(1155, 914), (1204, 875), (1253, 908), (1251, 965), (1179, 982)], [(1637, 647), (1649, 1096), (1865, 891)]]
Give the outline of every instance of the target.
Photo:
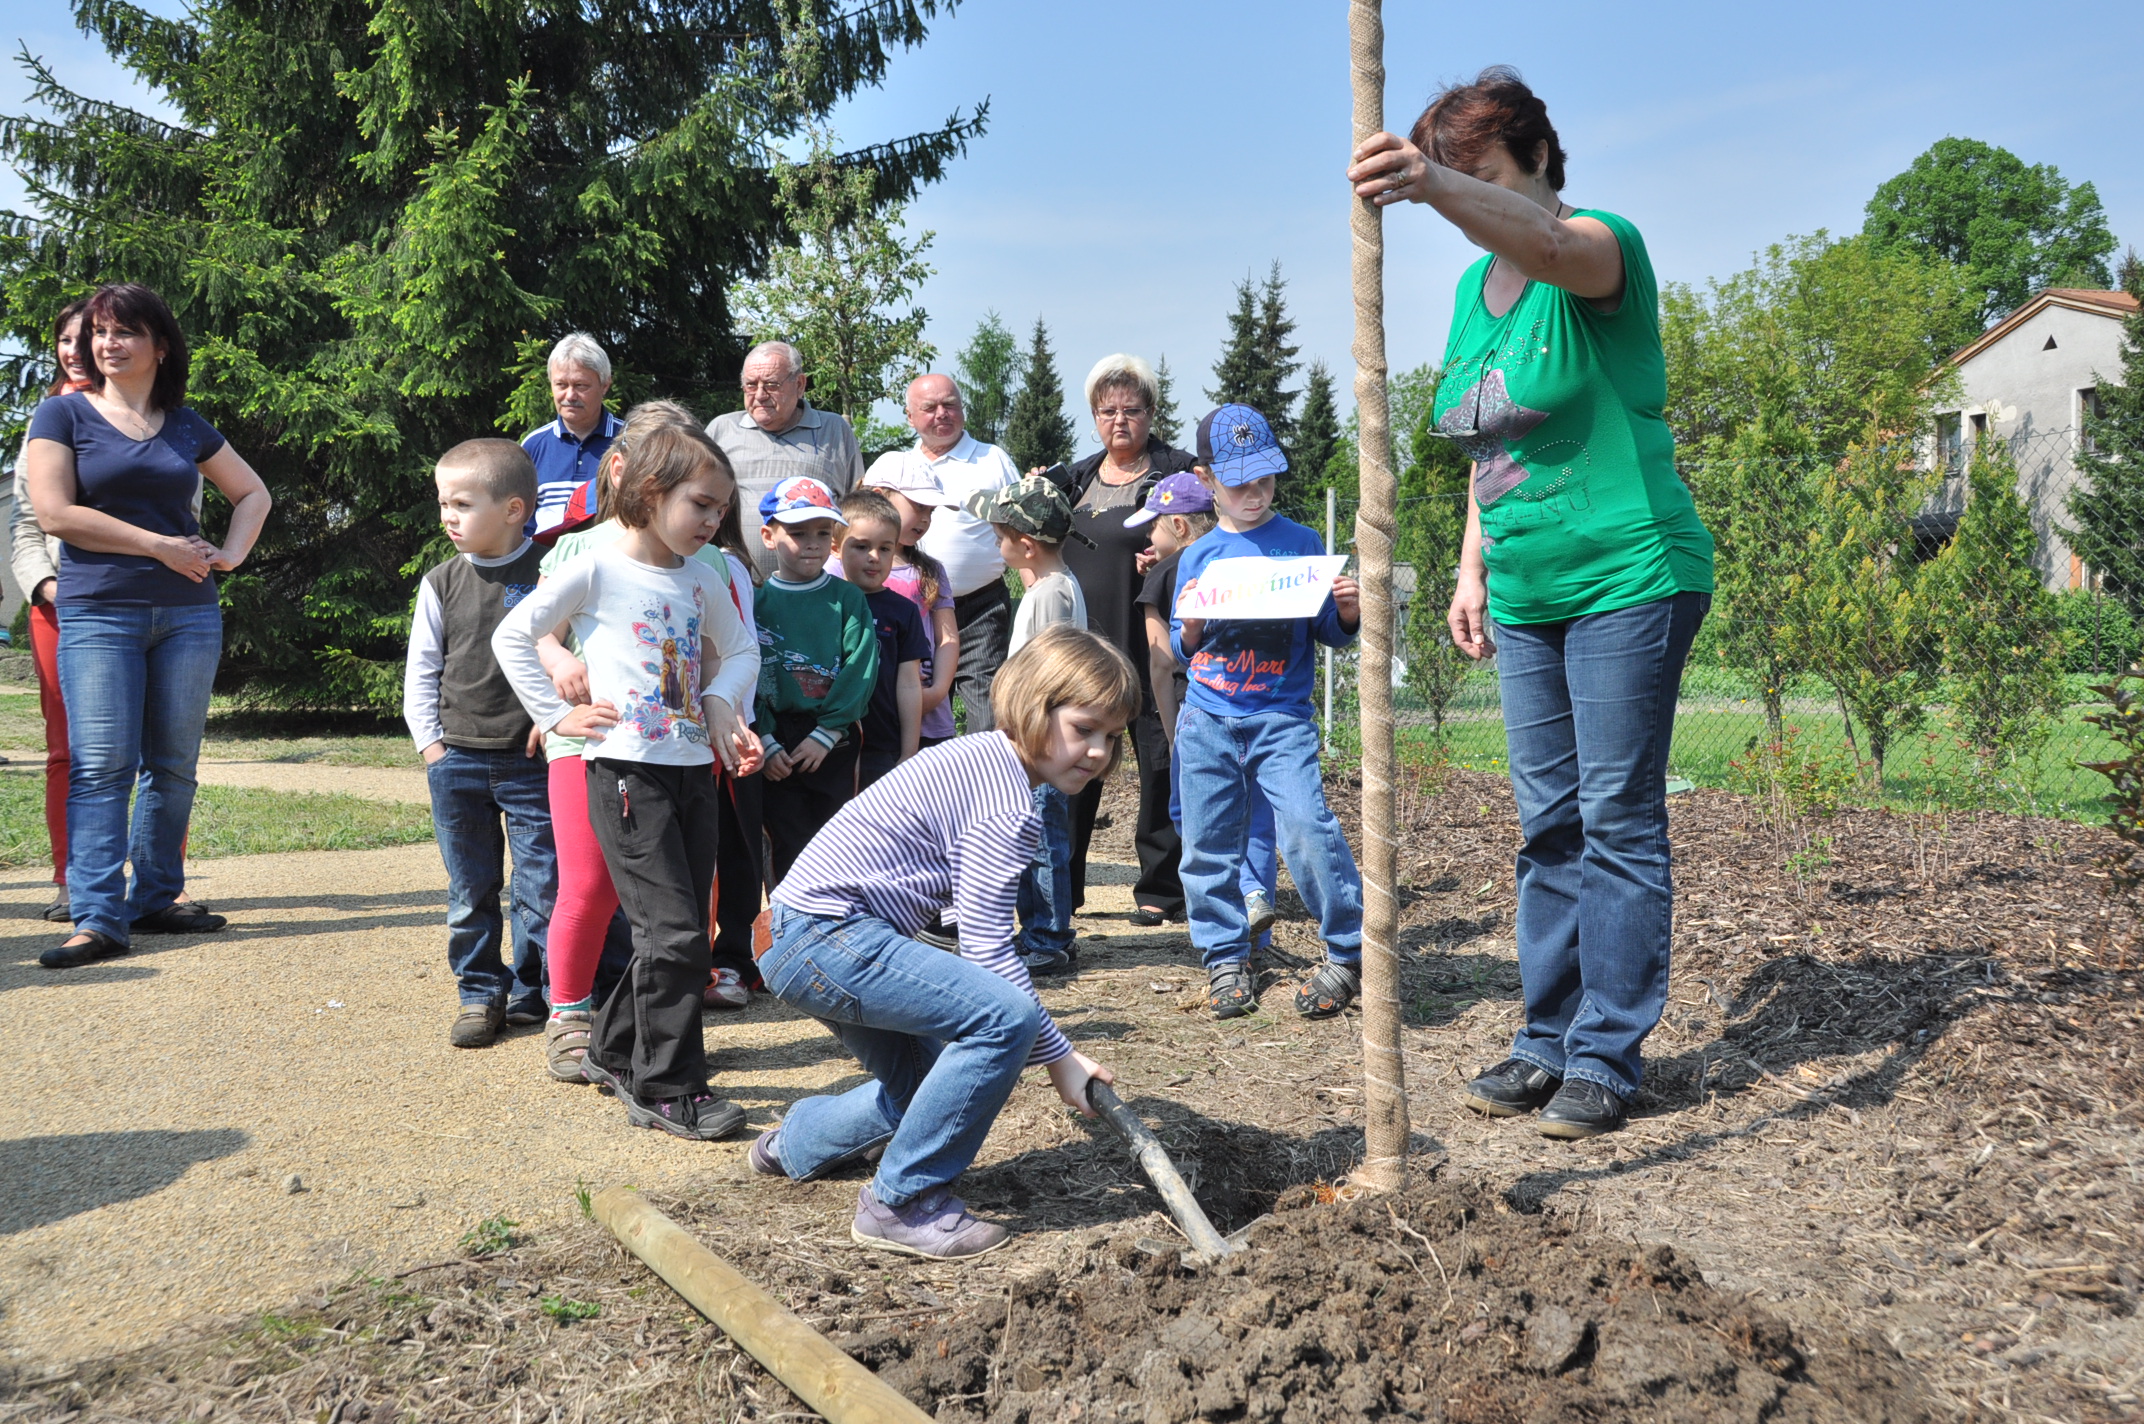
[[(369, 851), (431, 841), (431, 809), (358, 796), (202, 787), (187, 854)], [(0, 866), (45, 864), (45, 768), (0, 770)]]

